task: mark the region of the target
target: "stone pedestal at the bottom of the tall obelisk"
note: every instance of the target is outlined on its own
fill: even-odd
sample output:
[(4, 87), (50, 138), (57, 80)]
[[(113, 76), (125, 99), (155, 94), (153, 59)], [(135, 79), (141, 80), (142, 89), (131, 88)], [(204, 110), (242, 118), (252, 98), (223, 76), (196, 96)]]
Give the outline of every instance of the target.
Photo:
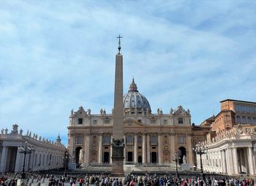
[(110, 177), (124, 177), (124, 146), (112, 146), (112, 171)]

